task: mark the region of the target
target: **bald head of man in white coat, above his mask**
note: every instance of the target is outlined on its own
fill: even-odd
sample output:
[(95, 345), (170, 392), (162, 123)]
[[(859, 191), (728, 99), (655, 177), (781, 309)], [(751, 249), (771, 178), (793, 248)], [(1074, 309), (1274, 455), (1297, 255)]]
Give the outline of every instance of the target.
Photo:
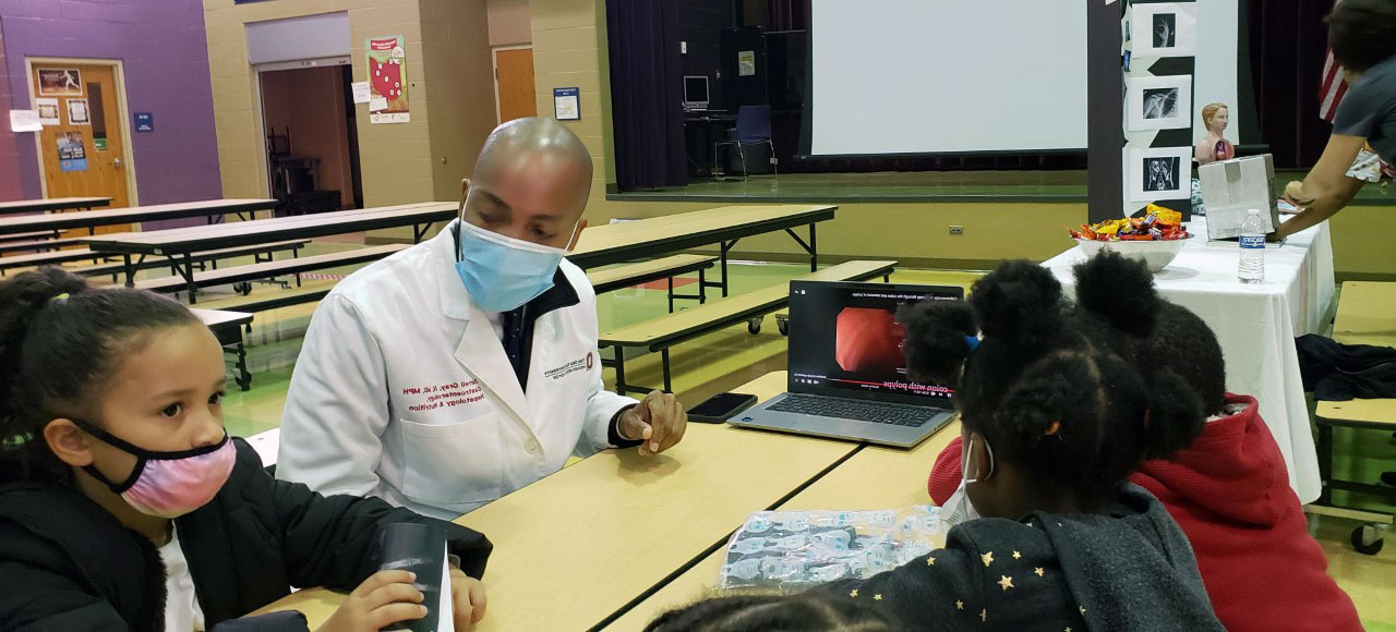
[(490, 133), (469, 179), (462, 219), (507, 237), (567, 246), (592, 190), (592, 155), (553, 119), (518, 119)]

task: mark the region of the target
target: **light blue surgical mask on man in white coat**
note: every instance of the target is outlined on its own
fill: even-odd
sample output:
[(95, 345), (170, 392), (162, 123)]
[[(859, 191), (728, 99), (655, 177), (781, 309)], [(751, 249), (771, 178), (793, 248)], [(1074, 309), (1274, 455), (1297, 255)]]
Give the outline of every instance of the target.
[[(574, 239), (577, 229), (572, 229)], [(470, 300), (484, 311), (511, 311), (553, 287), (553, 275), (567, 251), (456, 223), (455, 272)]]

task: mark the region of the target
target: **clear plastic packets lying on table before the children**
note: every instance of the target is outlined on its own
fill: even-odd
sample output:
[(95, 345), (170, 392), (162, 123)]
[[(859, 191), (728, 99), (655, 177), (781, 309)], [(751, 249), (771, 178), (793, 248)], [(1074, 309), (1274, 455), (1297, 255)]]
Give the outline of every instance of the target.
[(722, 589), (800, 590), (867, 579), (945, 546), (938, 506), (755, 512), (727, 541)]

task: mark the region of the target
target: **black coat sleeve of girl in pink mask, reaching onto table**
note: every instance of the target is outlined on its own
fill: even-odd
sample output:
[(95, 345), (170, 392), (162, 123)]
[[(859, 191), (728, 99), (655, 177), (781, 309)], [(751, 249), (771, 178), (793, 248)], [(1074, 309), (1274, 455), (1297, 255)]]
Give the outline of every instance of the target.
[(440, 526), (447, 533), (447, 548), (461, 558), (461, 571), (472, 578), (484, 575), (493, 546), (483, 534), (378, 498), (320, 495), (300, 483), (274, 479), (261, 467), (255, 451), (246, 444), (239, 448), (239, 460), (257, 462), (255, 484), (269, 490), (286, 578), (293, 586), (353, 590), (377, 571), (380, 533), (395, 522)]

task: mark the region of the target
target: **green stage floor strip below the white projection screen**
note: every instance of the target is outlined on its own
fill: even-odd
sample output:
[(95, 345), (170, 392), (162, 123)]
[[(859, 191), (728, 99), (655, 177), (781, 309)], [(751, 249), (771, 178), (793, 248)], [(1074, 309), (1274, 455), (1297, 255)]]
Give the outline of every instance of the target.
[[(1276, 186), (1302, 180), (1304, 172), (1279, 172)], [(956, 198), (1012, 200), (1037, 202), (1085, 202), (1086, 172), (882, 172), (882, 173), (787, 173), (754, 176), (747, 180), (692, 181), (685, 187), (611, 193), (611, 200), (648, 201), (741, 201), (811, 200), (818, 202), (859, 201), (955, 201)], [(1396, 193), (1369, 184), (1354, 205), (1396, 204)]]

